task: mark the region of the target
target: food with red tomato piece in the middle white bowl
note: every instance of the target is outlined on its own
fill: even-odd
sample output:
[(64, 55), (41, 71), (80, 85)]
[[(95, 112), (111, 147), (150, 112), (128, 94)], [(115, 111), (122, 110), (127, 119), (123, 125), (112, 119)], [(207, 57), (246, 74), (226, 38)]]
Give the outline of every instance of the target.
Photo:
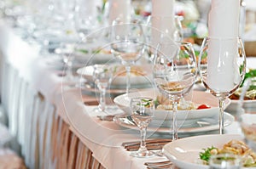
[[(158, 95), (154, 100), (156, 110), (172, 110), (172, 100), (166, 99), (163, 95)], [(181, 99), (177, 104), (177, 110), (201, 110), (209, 109), (210, 105), (207, 104), (195, 104), (192, 101)]]

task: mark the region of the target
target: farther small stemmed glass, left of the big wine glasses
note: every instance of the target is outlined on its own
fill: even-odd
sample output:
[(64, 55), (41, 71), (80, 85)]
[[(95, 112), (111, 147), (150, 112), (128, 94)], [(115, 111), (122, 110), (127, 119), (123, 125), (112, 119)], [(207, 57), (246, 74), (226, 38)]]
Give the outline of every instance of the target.
[(100, 90), (100, 103), (98, 104), (96, 111), (107, 112), (106, 91), (113, 79), (113, 66), (94, 65), (93, 68), (93, 79)]

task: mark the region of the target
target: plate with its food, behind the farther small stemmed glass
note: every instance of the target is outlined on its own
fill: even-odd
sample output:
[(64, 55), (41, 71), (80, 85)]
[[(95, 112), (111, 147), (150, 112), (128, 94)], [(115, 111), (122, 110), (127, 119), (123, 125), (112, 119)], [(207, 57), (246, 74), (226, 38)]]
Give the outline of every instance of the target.
[[(110, 84), (111, 88), (125, 88), (126, 87), (126, 73), (124, 65), (113, 65), (114, 76)], [(83, 76), (89, 82), (93, 80), (93, 65), (79, 68), (77, 73)], [(131, 66), (131, 87), (148, 87), (152, 86), (151, 65), (133, 65)]]

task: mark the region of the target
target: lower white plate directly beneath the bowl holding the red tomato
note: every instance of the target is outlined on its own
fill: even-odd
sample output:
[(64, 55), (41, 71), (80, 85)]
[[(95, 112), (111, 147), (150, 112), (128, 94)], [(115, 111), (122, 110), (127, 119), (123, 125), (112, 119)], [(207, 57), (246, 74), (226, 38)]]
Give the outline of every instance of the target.
[[(138, 127), (134, 124), (134, 122), (130, 118), (127, 118), (127, 115), (116, 115), (113, 119), (119, 126), (130, 128), (134, 130), (138, 130)], [(230, 115), (229, 113), (224, 112), (224, 127), (229, 126), (235, 117)], [(170, 121), (171, 124), (172, 121)], [(197, 122), (200, 122), (199, 125)], [(193, 124), (185, 124), (178, 129), (178, 133), (197, 133), (197, 132), (210, 132), (218, 130), (218, 115), (214, 115), (211, 118), (202, 118)], [(204, 125), (207, 124), (207, 125)], [(148, 132), (172, 132), (170, 127), (162, 127), (159, 123), (154, 124), (154, 121), (148, 126)]]

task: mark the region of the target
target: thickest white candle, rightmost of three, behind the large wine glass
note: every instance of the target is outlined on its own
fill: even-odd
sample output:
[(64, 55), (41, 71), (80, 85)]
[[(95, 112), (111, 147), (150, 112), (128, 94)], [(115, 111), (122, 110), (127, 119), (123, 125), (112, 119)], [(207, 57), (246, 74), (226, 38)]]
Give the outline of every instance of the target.
[(208, 15), (209, 50), (207, 84), (218, 92), (230, 92), (234, 86), (239, 33), (239, 0), (212, 0)]

